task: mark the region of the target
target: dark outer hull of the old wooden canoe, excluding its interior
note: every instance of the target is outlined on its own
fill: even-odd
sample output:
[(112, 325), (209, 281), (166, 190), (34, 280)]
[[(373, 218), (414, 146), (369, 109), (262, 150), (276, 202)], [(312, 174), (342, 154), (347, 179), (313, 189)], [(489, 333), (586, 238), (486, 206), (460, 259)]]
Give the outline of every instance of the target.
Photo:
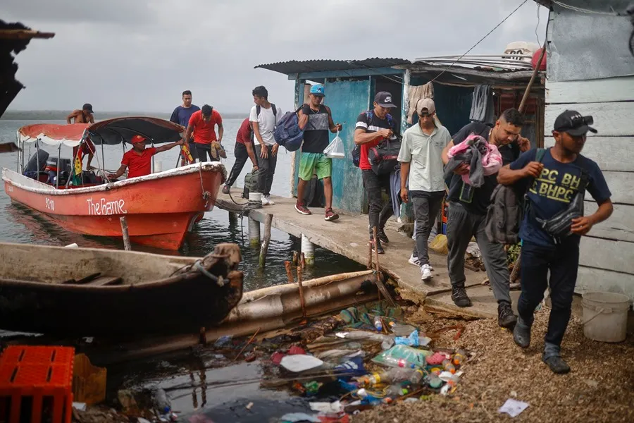
[(56, 336), (199, 333), (220, 323), (242, 298), (242, 272), (219, 259), (209, 266), (225, 284), (189, 270), (160, 281), (81, 286), (0, 278), (0, 329)]

